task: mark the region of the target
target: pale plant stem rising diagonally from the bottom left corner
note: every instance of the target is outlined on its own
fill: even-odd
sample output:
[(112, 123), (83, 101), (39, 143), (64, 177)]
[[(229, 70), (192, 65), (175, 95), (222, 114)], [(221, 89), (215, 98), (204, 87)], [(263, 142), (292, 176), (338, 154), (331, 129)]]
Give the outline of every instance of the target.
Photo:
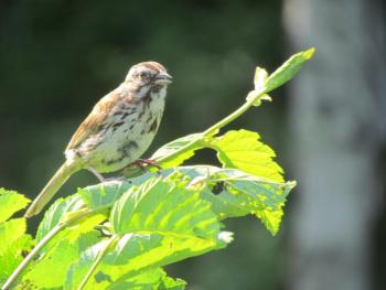
[(1, 287), (1, 290), (8, 290), (12, 286), (12, 283), (18, 279), (18, 277), (22, 273), (22, 271), (26, 268), (26, 266), (32, 261), (32, 259), (39, 254), (39, 251), (54, 237), (58, 232), (63, 228), (69, 226), (71, 224), (79, 221), (81, 218), (88, 216), (92, 212), (84, 211), (78, 215), (63, 222), (58, 223), (54, 226), (39, 243), (37, 245), (30, 251), (29, 255), (22, 260), (22, 262), (18, 266), (18, 268), (12, 272), (12, 275), (7, 279), (6, 283)]

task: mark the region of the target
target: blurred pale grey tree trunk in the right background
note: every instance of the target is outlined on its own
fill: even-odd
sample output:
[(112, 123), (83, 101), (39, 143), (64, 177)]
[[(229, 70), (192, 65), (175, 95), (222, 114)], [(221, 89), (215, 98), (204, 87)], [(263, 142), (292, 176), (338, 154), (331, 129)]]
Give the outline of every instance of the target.
[(382, 6), (285, 1), (291, 51), (317, 47), (290, 86), (291, 163), (299, 182), (292, 196), (290, 289), (372, 286), (377, 154), (386, 115)]

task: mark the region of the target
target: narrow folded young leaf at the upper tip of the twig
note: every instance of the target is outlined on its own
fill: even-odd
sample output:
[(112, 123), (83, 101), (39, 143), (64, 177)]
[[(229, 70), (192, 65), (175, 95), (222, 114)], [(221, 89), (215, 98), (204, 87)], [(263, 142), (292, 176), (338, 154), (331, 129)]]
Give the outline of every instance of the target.
[(292, 55), (267, 78), (265, 93), (269, 93), (290, 80), (300, 71), (303, 64), (313, 56), (314, 52), (315, 49), (312, 47)]

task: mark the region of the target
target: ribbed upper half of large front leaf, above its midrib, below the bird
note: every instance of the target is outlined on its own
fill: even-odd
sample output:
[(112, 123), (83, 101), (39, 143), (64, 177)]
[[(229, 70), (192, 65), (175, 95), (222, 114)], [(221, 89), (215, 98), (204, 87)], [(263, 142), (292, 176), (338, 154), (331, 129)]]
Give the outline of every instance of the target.
[(132, 186), (115, 204), (110, 217), (115, 233), (159, 233), (174, 236), (214, 237), (219, 223), (211, 204), (184, 182), (149, 179)]

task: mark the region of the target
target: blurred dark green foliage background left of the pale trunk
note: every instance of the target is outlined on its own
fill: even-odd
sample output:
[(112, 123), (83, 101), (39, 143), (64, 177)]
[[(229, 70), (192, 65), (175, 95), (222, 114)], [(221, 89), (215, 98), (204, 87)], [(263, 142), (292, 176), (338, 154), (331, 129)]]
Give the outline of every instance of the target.
[[(226, 116), (253, 88), (256, 65), (270, 69), (285, 58), (280, 6), (279, 0), (1, 1), (1, 186), (34, 196), (92, 106), (141, 61), (161, 62), (174, 77), (149, 152)], [(286, 140), (280, 93), (274, 105), (234, 125), (261, 132), (279, 157)], [(211, 152), (197, 160), (212, 160)], [(94, 182), (79, 173), (62, 194)], [(170, 273), (191, 289), (280, 288), (280, 235), (271, 238), (251, 218), (227, 224), (237, 238), (227, 251), (179, 264)]]

